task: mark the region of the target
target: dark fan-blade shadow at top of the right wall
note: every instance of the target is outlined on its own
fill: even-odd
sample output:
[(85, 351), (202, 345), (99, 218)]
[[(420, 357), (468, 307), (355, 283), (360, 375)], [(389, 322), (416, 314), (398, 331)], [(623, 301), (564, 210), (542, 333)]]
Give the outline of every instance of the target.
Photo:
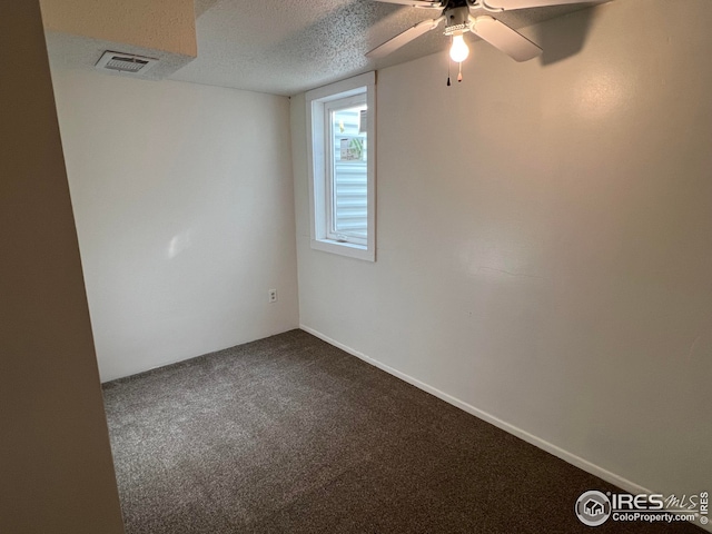
[(540, 58), (542, 65), (576, 56), (583, 49), (595, 9), (583, 9), (561, 17), (556, 29), (546, 23), (533, 28), (532, 40), (544, 50)]

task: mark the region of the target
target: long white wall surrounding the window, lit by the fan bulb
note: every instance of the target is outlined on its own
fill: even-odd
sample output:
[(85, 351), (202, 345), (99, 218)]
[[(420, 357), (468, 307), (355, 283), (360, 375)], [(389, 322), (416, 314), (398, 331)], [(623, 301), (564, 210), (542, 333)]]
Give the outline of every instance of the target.
[(530, 28), (543, 61), (481, 41), (451, 88), (444, 55), (379, 71), (375, 264), (309, 248), (293, 98), (301, 324), (629, 488), (709, 491), (712, 3), (684, 4)]

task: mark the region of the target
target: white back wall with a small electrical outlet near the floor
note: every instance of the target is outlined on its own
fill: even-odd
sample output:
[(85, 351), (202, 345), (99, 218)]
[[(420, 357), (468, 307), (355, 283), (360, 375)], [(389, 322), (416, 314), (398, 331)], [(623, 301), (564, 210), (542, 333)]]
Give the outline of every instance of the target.
[(296, 327), (288, 99), (52, 76), (102, 380)]

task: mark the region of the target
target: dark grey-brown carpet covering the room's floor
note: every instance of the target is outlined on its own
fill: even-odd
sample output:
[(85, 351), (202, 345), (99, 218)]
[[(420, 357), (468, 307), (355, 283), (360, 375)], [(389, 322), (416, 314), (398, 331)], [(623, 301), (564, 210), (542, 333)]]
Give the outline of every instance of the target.
[(301, 330), (105, 385), (127, 534), (591, 528), (616, 491)]

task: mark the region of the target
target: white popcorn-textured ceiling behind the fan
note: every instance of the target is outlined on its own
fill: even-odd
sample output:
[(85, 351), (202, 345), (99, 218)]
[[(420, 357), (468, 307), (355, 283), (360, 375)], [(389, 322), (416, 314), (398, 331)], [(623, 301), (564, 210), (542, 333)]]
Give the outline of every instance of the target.
[[(594, 3), (496, 18), (523, 28)], [(386, 58), (365, 58), (400, 31), (439, 14), (373, 0), (196, 0), (196, 14), (198, 58), (170, 78), (276, 95), (295, 95), (448, 47), (442, 30), (434, 30)]]

